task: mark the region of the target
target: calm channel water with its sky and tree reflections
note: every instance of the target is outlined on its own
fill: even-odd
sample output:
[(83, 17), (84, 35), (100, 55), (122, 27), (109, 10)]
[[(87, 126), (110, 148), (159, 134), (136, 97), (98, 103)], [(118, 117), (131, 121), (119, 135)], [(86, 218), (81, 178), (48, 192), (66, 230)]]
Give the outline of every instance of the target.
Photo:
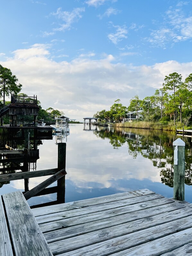
[[(70, 124), (66, 142), (65, 202), (148, 188), (173, 197), (175, 135), (160, 131)], [(185, 200), (192, 203), (191, 138), (186, 143)], [(57, 141), (58, 142), (58, 141)], [(38, 146), (36, 170), (57, 168), (56, 138)], [(2, 166), (1, 166), (2, 167)], [(31, 168), (34, 164), (31, 163)], [(29, 189), (47, 177), (31, 178)], [(0, 183), (0, 194), (24, 191), (24, 180)], [(56, 186), (57, 182), (51, 186)], [(55, 201), (57, 194), (33, 197), (30, 205)]]

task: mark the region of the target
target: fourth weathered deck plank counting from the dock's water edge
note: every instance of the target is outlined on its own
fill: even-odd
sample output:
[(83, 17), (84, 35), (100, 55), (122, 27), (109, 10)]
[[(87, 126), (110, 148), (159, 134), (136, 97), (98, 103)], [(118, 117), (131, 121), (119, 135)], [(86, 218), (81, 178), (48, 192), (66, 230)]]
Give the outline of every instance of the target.
[[(141, 210), (139, 212), (135, 212), (134, 215), (128, 213), (120, 215), (118, 216), (118, 218), (115, 216), (107, 219), (93, 221), (91, 225), (90, 223), (85, 223), (77, 226), (71, 226), (68, 228), (47, 232), (44, 234), (44, 236), (47, 242), (51, 243), (75, 236), (78, 236), (79, 239), (81, 237), (81, 234), (92, 232), (91, 234), (93, 234), (94, 236), (95, 234), (98, 234), (97, 242), (99, 242), (100, 239), (108, 239), (110, 236), (110, 232), (111, 237), (115, 237), (116, 229), (119, 228), (122, 229), (122, 234), (128, 234), (140, 229), (144, 229), (146, 228), (146, 226), (150, 227), (154, 225), (160, 225), (172, 220), (182, 218), (183, 216), (191, 215), (190, 209), (179, 209), (178, 204), (170, 205), (172, 207), (167, 207), (167, 205), (163, 205), (162, 207), (156, 207), (156, 211), (151, 209), (148, 209), (148, 211)], [(171, 210), (171, 212), (169, 212), (169, 210)], [(163, 213), (163, 211), (166, 212)], [(73, 219), (71, 219), (71, 222), (73, 223)], [(102, 235), (100, 235), (100, 233), (102, 233)], [(91, 238), (91, 243), (94, 241), (94, 236)], [(75, 245), (77, 245), (77, 243), (75, 243)]]

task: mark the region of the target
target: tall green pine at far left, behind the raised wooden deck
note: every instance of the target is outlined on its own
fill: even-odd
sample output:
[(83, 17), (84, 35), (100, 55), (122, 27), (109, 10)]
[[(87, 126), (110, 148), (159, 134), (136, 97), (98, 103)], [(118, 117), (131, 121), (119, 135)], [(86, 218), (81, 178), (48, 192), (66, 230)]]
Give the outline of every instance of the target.
[(18, 79), (11, 70), (0, 65), (0, 95), (3, 97), (3, 106), (5, 106), (5, 96), (21, 91), (22, 84), (17, 84), (17, 82)]

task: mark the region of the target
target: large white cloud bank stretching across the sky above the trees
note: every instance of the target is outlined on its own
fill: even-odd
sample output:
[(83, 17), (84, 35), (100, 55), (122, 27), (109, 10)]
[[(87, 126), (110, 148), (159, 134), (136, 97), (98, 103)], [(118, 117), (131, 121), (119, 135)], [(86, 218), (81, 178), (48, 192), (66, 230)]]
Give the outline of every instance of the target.
[(79, 121), (109, 110), (116, 99), (128, 106), (136, 94), (141, 99), (151, 96), (162, 87), (165, 75), (178, 72), (185, 79), (192, 70), (192, 62), (133, 66), (115, 63), (112, 55), (93, 59), (89, 52), (71, 62), (56, 62), (50, 59), (49, 47), (35, 44), (16, 50), (12, 58), (2, 57), (1, 65), (17, 76), (23, 93), (37, 95), (43, 109), (52, 107)]

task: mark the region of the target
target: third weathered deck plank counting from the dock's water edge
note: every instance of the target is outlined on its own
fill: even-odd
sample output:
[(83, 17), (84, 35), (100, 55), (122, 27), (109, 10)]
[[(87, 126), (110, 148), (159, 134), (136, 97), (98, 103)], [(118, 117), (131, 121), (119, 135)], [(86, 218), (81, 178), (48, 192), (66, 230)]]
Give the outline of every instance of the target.
[[(173, 204), (173, 206), (172, 206)], [(153, 207), (153, 211), (151, 208)], [(142, 218), (143, 214), (148, 214), (149, 216), (153, 216), (155, 213), (159, 214), (159, 210), (162, 209), (162, 207), (166, 207), (166, 210), (164, 211), (171, 211), (172, 208), (174, 209), (174, 203), (171, 199), (162, 198), (162, 199), (156, 199), (153, 201), (145, 202), (145, 206), (141, 206), (141, 203), (126, 206), (126, 207), (120, 207), (116, 209), (110, 209), (102, 212), (87, 214), (83, 216), (76, 216), (73, 218), (67, 218), (63, 220), (57, 220), (57, 221), (50, 221), (49, 223), (39, 224), (42, 232), (49, 232), (61, 228), (71, 227), (80, 225), (80, 224), (86, 224), (92, 225), (92, 222), (95, 220), (101, 220), (101, 219), (109, 219), (111, 217), (114, 217), (114, 221), (117, 221), (118, 218), (121, 218), (125, 215), (125, 217), (128, 215), (129, 220), (135, 220)], [(178, 204), (178, 208), (181, 208), (181, 205)], [(162, 209), (163, 211), (163, 209)], [(118, 216), (118, 217), (117, 217)], [(109, 219), (110, 220), (110, 219)], [(91, 222), (91, 223), (90, 223)]]

